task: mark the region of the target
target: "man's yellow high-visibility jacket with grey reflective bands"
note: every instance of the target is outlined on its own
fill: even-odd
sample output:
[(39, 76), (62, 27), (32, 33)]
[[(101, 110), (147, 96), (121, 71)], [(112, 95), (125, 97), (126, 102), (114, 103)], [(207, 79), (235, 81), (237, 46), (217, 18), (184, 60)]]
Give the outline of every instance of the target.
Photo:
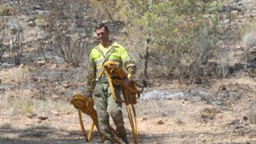
[(86, 87), (86, 91), (88, 92), (93, 91), (93, 83), (95, 82), (95, 79), (99, 77), (99, 73), (103, 70), (102, 64), (105, 56), (108, 57), (106, 61), (120, 63), (120, 67), (124, 67), (125, 70), (127, 70), (128, 79), (131, 79), (136, 72), (136, 65), (134, 61), (130, 59), (129, 53), (124, 47), (116, 42), (112, 42), (106, 54), (104, 54), (100, 47), (102, 47), (101, 44), (97, 45), (90, 53)]

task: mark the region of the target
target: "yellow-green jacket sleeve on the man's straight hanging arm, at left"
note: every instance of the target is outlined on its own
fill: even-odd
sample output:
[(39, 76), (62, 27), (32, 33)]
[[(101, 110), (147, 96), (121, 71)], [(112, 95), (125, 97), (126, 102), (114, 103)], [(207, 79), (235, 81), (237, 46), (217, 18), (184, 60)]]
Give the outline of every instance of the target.
[(94, 62), (94, 59), (93, 59), (93, 56), (92, 56), (92, 52), (90, 54), (90, 62), (89, 62), (89, 66), (88, 66), (87, 72), (88, 72), (88, 74), (87, 74), (87, 87), (86, 87), (86, 91), (92, 92), (93, 91), (93, 83), (94, 83), (95, 77), (96, 77), (96, 64)]

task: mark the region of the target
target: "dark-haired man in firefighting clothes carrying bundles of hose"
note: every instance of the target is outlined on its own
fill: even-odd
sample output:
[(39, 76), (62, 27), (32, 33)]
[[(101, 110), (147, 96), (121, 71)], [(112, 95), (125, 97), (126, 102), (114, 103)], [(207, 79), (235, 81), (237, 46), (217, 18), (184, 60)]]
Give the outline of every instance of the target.
[[(115, 101), (106, 75), (99, 77), (103, 70), (103, 63), (106, 61), (115, 61), (127, 71), (128, 79), (122, 86), (128, 86), (136, 72), (134, 61), (130, 59), (128, 51), (115, 41), (109, 40), (109, 29), (105, 24), (96, 27), (96, 33), (99, 38), (99, 45), (95, 46), (90, 53), (90, 64), (87, 75), (86, 97), (93, 97), (94, 109), (97, 112), (99, 130), (104, 135), (104, 144), (112, 144), (113, 133), (109, 129), (109, 115), (116, 126), (117, 136), (128, 144), (127, 135), (122, 116), (122, 103)], [(114, 86), (115, 95), (120, 99), (120, 86)]]

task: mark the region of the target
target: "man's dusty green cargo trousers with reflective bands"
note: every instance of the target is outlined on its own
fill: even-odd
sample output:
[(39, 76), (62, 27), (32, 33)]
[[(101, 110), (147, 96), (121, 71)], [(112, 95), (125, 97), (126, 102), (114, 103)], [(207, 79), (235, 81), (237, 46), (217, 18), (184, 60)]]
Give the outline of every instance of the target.
[[(120, 87), (115, 86), (115, 95), (120, 98)], [(99, 129), (107, 137), (112, 137), (109, 127), (109, 115), (111, 115), (116, 126), (118, 137), (126, 136), (122, 115), (122, 103), (113, 99), (108, 83), (97, 83), (94, 87), (94, 109), (97, 112)], [(113, 143), (108, 138), (105, 138), (104, 143)]]

